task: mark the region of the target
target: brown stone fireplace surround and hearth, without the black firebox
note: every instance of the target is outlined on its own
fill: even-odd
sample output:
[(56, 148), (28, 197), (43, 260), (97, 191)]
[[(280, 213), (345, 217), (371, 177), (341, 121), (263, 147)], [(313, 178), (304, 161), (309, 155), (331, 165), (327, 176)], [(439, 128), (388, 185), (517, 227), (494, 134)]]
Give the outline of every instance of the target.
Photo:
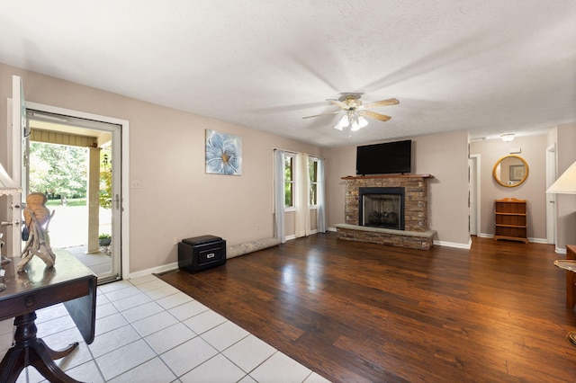
[[(375, 175), (343, 177), (346, 180), (346, 224), (338, 224), (338, 238), (382, 245), (428, 250), (433, 245), (434, 230), (428, 230), (429, 174)], [(359, 226), (359, 188), (403, 187), (404, 230)]]

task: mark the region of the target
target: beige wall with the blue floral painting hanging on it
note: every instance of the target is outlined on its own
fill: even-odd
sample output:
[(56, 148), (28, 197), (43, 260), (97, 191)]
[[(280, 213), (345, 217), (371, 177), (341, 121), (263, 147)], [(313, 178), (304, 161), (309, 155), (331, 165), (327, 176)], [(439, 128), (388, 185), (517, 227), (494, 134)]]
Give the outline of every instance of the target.
[[(0, 119), (12, 76), (23, 78), (29, 102), (130, 121), (130, 272), (177, 262), (173, 237), (211, 234), (228, 245), (274, 236), (272, 151), (320, 156), (320, 148), (219, 120), (0, 64)], [(243, 138), (243, 174), (204, 174), (204, 130)], [(2, 123), (0, 137), (6, 137)], [(7, 164), (6, 142), (0, 161)], [(259, 225), (259, 229), (257, 229)], [(126, 254), (124, 254), (126, 255)]]

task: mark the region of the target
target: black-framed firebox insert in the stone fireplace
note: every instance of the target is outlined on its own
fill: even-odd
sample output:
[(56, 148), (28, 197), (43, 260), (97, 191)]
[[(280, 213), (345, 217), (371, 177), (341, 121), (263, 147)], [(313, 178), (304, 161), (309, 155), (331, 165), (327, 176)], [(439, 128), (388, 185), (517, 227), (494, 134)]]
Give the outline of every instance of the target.
[(403, 187), (359, 188), (358, 197), (361, 226), (404, 230)]

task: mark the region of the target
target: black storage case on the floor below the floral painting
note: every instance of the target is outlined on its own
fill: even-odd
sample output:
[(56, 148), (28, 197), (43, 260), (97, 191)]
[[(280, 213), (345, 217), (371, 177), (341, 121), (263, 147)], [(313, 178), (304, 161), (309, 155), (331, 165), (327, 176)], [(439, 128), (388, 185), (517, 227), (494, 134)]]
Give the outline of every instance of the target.
[(220, 236), (194, 236), (178, 244), (178, 267), (201, 272), (226, 263), (226, 241)]

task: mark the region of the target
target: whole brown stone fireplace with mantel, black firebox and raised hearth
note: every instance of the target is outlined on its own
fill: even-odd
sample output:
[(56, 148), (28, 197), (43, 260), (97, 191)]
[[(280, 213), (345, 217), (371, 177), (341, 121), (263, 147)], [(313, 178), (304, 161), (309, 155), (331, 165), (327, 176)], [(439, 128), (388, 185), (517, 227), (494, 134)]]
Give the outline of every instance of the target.
[(346, 223), (337, 224), (338, 238), (428, 250), (429, 174), (343, 177), (346, 180)]

